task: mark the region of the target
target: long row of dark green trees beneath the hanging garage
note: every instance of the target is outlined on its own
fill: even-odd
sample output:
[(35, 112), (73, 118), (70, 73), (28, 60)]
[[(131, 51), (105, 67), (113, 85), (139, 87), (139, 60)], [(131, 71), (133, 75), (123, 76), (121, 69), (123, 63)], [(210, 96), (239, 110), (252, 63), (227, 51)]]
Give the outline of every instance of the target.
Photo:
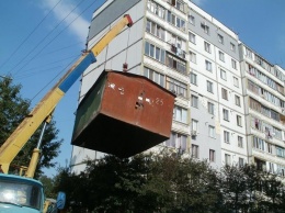
[(70, 212), (285, 212), (284, 184), (276, 176), (249, 165), (217, 171), (169, 153), (109, 155), (80, 175), (62, 169), (55, 186), (67, 192)]

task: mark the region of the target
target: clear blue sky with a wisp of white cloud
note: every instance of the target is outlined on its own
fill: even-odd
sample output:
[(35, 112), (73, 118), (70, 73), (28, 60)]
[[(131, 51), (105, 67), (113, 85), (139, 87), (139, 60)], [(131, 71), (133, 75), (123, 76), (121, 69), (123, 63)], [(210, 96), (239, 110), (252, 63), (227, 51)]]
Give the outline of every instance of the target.
[[(32, 108), (67, 71), (84, 49), (92, 13), (104, 0), (0, 1), (0, 76), (21, 83)], [(284, 0), (193, 0), (205, 12), (239, 35), (271, 64), (285, 68)], [(69, 165), (71, 135), (78, 105), (79, 80), (54, 113), (58, 138), (64, 138), (53, 177)]]

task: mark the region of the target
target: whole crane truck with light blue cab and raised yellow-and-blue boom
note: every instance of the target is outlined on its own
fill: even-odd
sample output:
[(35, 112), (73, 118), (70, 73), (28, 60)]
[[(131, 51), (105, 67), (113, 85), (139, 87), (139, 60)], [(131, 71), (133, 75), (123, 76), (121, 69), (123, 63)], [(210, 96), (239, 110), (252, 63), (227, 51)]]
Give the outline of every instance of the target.
[[(43, 212), (44, 190), (39, 181), (32, 179), (39, 157), (41, 138), (27, 167), (26, 177), (8, 175), (14, 157), (27, 143), (38, 126), (50, 119), (57, 103), (82, 72), (96, 60), (96, 56), (125, 26), (132, 26), (128, 14), (124, 15), (90, 51), (82, 56), (64, 75), (64, 77), (47, 92), (26, 116), (18, 128), (10, 135), (0, 148), (0, 212)], [(45, 124), (44, 124), (45, 128)], [(43, 128), (43, 130), (44, 130)], [(42, 135), (43, 135), (42, 131)], [(41, 135), (41, 137), (42, 137)], [(21, 190), (20, 190), (21, 189)], [(2, 198), (2, 199), (1, 199)], [(60, 199), (59, 199), (60, 200)]]

